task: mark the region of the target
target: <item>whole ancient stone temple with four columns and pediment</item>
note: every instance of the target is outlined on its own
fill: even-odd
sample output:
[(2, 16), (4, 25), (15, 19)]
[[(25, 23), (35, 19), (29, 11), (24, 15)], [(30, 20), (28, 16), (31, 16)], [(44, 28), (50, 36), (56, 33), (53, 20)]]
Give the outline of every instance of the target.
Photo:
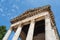
[(11, 27), (3, 40), (8, 40), (11, 32), (15, 34), (11, 40), (59, 40), (54, 15), (49, 5), (27, 10), (11, 20)]

